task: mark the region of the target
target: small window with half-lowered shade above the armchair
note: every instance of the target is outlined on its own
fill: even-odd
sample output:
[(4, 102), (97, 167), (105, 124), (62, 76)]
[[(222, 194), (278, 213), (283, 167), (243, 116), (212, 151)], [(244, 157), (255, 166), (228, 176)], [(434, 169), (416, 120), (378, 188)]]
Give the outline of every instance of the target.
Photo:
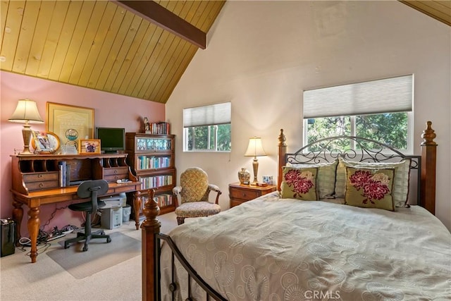
[(183, 151), (230, 152), (231, 103), (183, 109)]

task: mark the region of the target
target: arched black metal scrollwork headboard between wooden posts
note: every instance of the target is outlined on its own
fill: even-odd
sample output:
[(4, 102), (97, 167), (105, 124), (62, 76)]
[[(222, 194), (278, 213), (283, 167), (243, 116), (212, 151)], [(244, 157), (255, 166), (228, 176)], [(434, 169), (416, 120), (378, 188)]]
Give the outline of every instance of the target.
[(416, 170), (416, 204), (422, 205), (421, 156), (403, 154), (376, 140), (357, 136), (326, 137), (309, 143), (295, 153), (285, 154), (285, 163), (319, 164), (335, 161), (339, 157), (358, 162), (398, 162), (410, 159), (411, 173)]

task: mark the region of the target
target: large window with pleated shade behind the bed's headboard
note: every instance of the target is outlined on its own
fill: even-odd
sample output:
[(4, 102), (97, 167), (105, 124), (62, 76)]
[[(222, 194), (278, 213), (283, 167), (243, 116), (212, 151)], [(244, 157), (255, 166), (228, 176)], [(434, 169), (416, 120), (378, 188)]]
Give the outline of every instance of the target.
[(304, 143), (351, 135), (412, 152), (412, 103), (413, 75), (304, 91)]

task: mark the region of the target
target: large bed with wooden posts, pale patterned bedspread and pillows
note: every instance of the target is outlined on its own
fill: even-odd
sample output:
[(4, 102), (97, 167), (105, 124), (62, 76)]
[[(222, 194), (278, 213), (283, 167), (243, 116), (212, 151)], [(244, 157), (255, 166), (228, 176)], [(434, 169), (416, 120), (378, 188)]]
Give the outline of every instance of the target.
[[(169, 235), (159, 233), (156, 202), (147, 202), (143, 300), (451, 300), (451, 234), (433, 215), (437, 145), (431, 122), (422, 138), (421, 156), (356, 137), (328, 138), (316, 143), (319, 150), (309, 145), (288, 154), (281, 130), (278, 192)], [(362, 144), (362, 152), (337, 152), (344, 140)], [(395, 183), (395, 176), (405, 176), (399, 164), (408, 166), (407, 188)], [(330, 165), (335, 183), (327, 185)], [(344, 199), (335, 186), (342, 168)], [(290, 186), (295, 172), (315, 185), (309, 191), (309, 185)], [(364, 193), (362, 178), (371, 185), (378, 180), (372, 191), (383, 197)], [(381, 185), (390, 187), (392, 207)], [(400, 198), (405, 193), (409, 202)], [(359, 197), (363, 201), (352, 204)]]

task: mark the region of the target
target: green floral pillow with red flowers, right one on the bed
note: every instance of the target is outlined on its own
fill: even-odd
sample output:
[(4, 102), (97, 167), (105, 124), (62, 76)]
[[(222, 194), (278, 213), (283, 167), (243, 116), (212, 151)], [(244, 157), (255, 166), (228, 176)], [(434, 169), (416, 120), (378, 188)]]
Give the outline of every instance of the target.
[(395, 211), (394, 168), (346, 168), (345, 204)]

